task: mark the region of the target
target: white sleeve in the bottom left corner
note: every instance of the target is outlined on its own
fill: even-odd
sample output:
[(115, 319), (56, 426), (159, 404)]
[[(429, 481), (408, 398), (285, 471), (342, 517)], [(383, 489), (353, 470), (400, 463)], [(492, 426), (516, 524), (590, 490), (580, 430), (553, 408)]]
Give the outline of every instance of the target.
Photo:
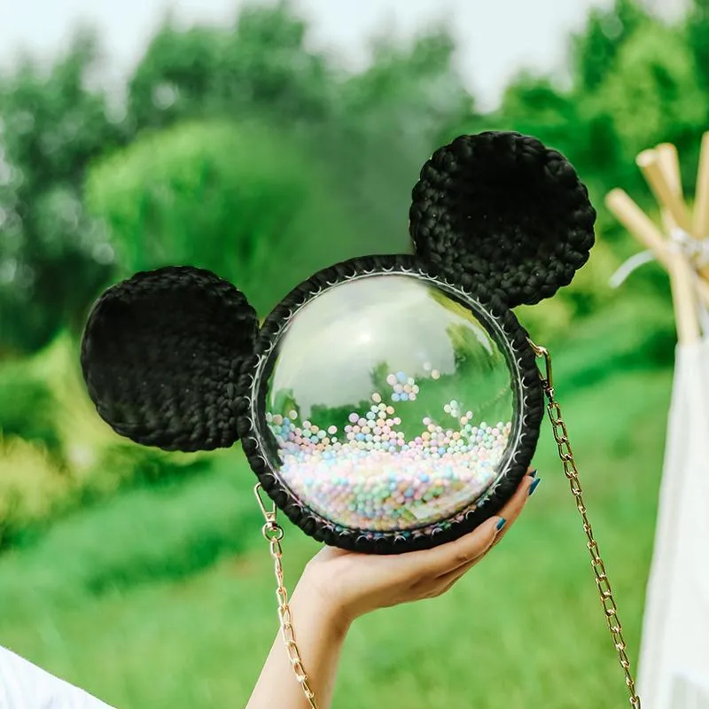
[(0, 709), (112, 709), (0, 647)]

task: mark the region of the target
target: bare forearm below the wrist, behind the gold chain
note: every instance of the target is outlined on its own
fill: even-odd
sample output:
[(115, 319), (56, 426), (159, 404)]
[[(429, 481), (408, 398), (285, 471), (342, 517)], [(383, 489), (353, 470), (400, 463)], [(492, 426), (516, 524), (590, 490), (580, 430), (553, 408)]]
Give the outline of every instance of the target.
[[(292, 624), (300, 658), (319, 709), (328, 709), (349, 623), (301, 581), (292, 596)], [(275, 612), (274, 612), (275, 615)], [(280, 630), (246, 709), (310, 709), (296, 680)]]

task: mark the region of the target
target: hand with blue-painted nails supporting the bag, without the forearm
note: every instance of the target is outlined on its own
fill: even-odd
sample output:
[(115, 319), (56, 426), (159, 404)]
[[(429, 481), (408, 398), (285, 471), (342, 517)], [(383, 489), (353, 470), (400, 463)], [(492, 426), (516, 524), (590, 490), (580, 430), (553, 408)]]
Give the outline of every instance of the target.
[(346, 625), (378, 608), (440, 596), (501, 541), (533, 482), (526, 475), (498, 515), (440, 547), (384, 557), (325, 547), (306, 566), (297, 592), (315, 593), (331, 617)]

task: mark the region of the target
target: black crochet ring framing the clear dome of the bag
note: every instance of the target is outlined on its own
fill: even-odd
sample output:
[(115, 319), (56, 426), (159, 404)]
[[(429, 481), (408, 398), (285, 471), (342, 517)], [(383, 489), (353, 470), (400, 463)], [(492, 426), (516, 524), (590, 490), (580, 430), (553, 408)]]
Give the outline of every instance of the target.
[[(495, 320), (510, 342), (510, 371), (518, 371), (518, 445), (512, 450), (506, 465), (505, 475), (485, 503), (478, 501), (473, 507), (461, 510), (443, 522), (422, 526), (418, 529), (393, 532), (371, 532), (334, 525), (308, 508), (305, 501), (278, 479), (270, 461), (277, 461), (277, 444), (265, 425), (266, 381), (269, 378), (269, 363), (277, 352), (278, 342), (287, 330), (288, 323), (298, 308), (316, 294), (345, 283), (353, 277), (378, 274), (416, 274), (428, 283), (439, 284), (456, 300), (474, 307), (479, 323), (489, 327)], [(256, 372), (260, 372), (258, 377)], [(506, 503), (524, 477), (534, 456), (541, 419), (544, 416), (544, 401), (539, 370), (534, 352), (527, 342), (526, 331), (518, 323), (509, 308), (489, 294), (483, 284), (467, 289), (451, 283), (439, 271), (416, 256), (368, 256), (344, 261), (323, 269), (298, 285), (277, 305), (261, 326), (256, 340), (253, 358), (245, 362), (238, 386), (238, 432), (245, 455), (261, 481), (261, 485), (277, 507), (284, 510), (293, 524), (299, 526), (317, 541), (373, 554), (396, 554), (413, 549), (429, 549), (470, 532), (487, 518), (495, 515)]]

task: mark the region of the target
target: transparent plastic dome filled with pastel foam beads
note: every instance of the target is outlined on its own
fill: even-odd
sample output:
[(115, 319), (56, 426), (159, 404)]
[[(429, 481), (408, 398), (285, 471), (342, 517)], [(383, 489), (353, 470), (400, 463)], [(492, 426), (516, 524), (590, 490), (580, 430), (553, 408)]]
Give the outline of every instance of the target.
[(516, 429), (507, 358), (426, 279), (332, 286), (292, 317), (266, 371), (269, 464), (335, 525), (429, 526), (471, 508), (503, 471)]

